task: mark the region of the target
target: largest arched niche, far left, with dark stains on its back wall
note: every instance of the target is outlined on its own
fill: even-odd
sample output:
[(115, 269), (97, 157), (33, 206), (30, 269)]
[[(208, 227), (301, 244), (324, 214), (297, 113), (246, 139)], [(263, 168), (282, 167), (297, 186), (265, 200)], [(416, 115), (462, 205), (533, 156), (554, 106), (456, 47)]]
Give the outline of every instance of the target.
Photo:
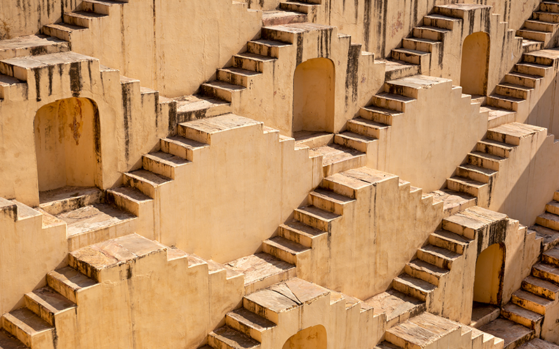
[(95, 186), (99, 112), (87, 98), (67, 98), (37, 111), (34, 120), (39, 191)]

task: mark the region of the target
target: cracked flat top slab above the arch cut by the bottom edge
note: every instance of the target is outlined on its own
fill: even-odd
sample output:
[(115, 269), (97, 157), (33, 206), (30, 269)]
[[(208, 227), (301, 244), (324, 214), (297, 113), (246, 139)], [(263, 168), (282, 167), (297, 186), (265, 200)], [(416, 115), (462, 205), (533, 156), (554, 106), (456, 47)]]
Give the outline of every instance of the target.
[(293, 278), (246, 295), (242, 299), (242, 305), (245, 309), (277, 324), (279, 313), (291, 311), (303, 304), (310, 304), (319, 298), (329, 296), (330, 291), (326, 288)]

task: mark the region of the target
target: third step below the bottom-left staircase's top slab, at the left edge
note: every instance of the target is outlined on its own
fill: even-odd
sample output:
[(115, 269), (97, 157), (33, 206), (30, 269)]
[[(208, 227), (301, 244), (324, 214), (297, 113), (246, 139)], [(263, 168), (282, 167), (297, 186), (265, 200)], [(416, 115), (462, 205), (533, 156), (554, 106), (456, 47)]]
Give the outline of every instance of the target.
[(33, 311), (20, 308), (1, 317), (3, 328), (29, 348), (52, 348), (54, 346), (55, 327), (41, 319)]

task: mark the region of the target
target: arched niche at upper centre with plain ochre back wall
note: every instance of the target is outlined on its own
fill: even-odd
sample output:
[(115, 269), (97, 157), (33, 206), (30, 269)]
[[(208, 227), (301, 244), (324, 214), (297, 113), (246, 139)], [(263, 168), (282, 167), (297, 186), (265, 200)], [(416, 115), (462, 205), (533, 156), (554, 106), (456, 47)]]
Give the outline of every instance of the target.
[(335, 67), (326, 58), (299, 64), (293, 75), (293, 132), (334, 132)]

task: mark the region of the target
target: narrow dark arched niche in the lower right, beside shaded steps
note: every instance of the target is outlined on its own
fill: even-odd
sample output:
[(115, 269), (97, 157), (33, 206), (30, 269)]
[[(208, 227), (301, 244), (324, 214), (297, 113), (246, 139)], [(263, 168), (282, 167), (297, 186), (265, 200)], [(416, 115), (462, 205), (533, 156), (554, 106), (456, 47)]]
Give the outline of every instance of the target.
[(504, 255), (504, 244), (493, 244), (479, 254), (474, 279), (474, 302), (501, 305)]

